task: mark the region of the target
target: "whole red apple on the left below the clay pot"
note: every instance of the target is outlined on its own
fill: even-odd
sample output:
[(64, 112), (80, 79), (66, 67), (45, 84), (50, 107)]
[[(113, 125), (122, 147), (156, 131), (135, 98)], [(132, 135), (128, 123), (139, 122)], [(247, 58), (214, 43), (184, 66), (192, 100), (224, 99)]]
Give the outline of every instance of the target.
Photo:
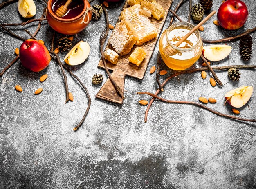
[(42, 43), (32, 39), (21, 44), (19, 56), (21, 64), (33, 72), (42, 71), (51, 61), (48, 49)]

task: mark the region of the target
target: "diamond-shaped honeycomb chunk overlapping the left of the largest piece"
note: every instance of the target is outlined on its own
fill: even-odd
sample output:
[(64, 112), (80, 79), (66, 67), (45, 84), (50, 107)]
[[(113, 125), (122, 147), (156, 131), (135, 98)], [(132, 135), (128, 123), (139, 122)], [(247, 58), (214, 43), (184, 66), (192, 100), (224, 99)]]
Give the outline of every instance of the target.
[(131, 51), (137, 39), (137, 34), (132, 28), (132, 25), (124, 20), (116, 24), (109, 38), (109, 42), (117, 53), (126, 55)]

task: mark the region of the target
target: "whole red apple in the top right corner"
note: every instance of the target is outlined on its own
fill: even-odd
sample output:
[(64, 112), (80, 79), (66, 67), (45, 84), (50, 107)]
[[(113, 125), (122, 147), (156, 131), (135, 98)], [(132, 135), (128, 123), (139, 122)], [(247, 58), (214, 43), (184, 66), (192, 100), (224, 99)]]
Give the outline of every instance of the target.
[(225, 1), (220, 5), (217, 13), (220, 26), (227, 30), (236, 30), (242, 27), (247, 18), (248, 9), (245, 3), (240, 0)]

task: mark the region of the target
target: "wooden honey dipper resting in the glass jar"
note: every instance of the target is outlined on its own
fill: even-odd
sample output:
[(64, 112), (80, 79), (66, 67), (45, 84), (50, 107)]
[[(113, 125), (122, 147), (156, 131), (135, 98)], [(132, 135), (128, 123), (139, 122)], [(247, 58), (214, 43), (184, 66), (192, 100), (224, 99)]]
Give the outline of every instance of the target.
[[(204, 18), (204, 20), (202, 20), (199, 24), (197, 24), (191, 31), (189, 31), (189, 33), (187, 33), (184, 37), (182, 37), (180, 39), (180, 41), (178, 41), (175, 46), (178, 47), (180, 44), (182, 44), (182, 42), (184, 42), (192, 33), (194, 33), (200, 26), (202, 26), (207, 20), (209, 20), (214, 14), (216, 13), (216, 11), (212, 11), (206, 18)], [(166, 52), (168, 53), (168, 55), (172, 56), (175, 55), (177, 52), (174, 48), (168, 46), (166, 48)]]

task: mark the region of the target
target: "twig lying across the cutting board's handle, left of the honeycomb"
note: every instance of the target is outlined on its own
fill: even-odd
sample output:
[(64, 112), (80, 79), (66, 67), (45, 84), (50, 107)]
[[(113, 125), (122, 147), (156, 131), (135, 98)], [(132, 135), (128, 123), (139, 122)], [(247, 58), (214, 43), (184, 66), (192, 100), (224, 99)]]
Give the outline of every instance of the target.
[(101, 37), (100, 37), (100, 44), (101, 44), (101, 48), (100, 48), (100, 51), (101, 51), (101, 59), (103, 61), (103, 64), (104, 64), (104, 68), (106, 70), (106, 73), (108, 74), (108, 77), (111, 81), (111, 83), (113, 84), (115, 90), (117, 91), (117, 93), (120, 95), (120, 97), (122, 99), (124, 99), (124, 94), (123, 94), (123, 90), (121, 87), (119, 87), (116, 82), (114, 81), (114, 79), (112, 78), (110, 72), (108, 71), (108, 66), (107, 66), (107, 63), (106, 63), (106, 60), (104, 58), (104, 53), (103, 53), (103, 46), (104, 46), (104, 43), (106, 41), (106, 38), (108, 36), (108, 31), (109, 31), (109, 27), (108, 27), (108, 12), (106, 11), (105, 7), (102, 5), (102, 9), (103, 9), (103, 12), (106, 16), (106, 27), (104, 29), (104, 31), (101, 33)]

